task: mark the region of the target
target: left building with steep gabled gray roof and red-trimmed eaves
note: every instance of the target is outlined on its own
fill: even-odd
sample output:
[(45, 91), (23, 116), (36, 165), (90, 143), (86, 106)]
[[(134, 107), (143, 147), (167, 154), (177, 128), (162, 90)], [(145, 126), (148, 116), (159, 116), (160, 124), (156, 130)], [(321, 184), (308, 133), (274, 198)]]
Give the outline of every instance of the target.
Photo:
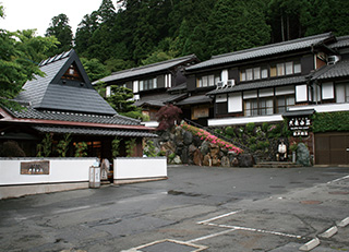
[(0, 146), (16, 141), (28, 157), (36, 156), (37, 144), (49, 133), (51, 156), (64, 134), (71, 135), (67, 156), (74, 146), (87, 144), (87, 156), (112, 158), (111, 142), (118, 136), (120, 156), (125, 156), (124, 142), (135, 139), (134, 156), (142, 156), (142, 139), (154, 137), (152, 129), (139, 120), (122, 117), (94, 89), (74, 50), (39, 63), (45, 76), (36, 76), (23, 86), (15, 100), (23, 109), (0, 107)]

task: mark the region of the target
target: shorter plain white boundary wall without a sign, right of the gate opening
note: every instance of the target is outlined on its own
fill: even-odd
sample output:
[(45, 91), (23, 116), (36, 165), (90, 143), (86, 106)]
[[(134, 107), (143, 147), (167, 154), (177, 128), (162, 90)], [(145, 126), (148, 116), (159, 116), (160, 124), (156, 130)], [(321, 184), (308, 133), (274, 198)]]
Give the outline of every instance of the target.
[(118, 157), (113, 160), (113, 179), (116, 183), (166, 178), (166, 157)]

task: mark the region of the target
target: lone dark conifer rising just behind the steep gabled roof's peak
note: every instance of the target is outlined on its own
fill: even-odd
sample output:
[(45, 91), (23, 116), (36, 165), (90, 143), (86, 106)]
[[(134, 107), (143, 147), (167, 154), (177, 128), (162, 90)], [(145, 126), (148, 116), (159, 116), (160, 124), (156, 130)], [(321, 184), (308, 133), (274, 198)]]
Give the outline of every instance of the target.
[(60, 45), (52, 51), (52, 55), (69, 51), (73, 47), (72, 27), (69, 25), (68, 16), (63, 13), (52, 17), (45, 36), (55, 36), (60, 43)]

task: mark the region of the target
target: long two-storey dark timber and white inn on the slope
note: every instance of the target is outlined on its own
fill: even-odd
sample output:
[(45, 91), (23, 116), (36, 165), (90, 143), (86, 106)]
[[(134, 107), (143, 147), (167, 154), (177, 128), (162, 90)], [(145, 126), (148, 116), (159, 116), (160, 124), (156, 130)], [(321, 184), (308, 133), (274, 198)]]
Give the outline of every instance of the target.
[[(315, 112), (349, 111), (349, 36), (325, 33), (203, 62), (182, 57), (101, 81), (130, 87), (152, 120), (170, 103), (182, 109), (184, 119), (210, 128), (277, 123), (284, 118), (308, 127)], [(349, 132), (293, 134), (306, 140), (315, 164), (349, 164)]]

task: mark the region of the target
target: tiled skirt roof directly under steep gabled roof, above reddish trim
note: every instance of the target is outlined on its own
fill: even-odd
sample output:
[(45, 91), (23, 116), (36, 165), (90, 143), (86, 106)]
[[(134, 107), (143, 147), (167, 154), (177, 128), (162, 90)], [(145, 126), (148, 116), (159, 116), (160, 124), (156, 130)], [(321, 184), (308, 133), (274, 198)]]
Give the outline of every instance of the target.
[(122, 124), (122, 125), (139, 125), (140, 124), (139, 120), (123, 117), (120, 115), (106, 116), (106, 115), (38, 110), (38, 109), (33, 109), (31, 107), (23, 109), (21, 111), (9, 110), (9, 112), (12, 116), (14, 116), (15, 118), (20, 118), (20, 119), (91, 122), (91, 123)]

